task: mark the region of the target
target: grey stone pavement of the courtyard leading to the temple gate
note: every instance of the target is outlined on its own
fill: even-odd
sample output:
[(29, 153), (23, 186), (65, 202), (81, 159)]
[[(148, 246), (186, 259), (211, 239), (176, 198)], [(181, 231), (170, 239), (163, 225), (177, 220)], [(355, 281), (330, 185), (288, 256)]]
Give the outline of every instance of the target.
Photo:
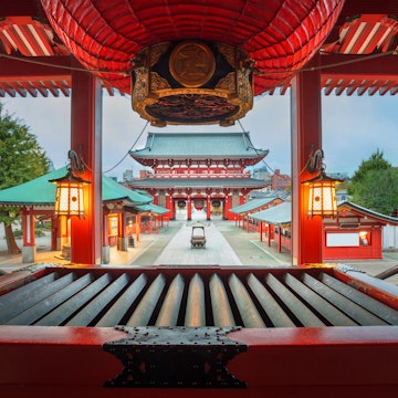
[[(260, 241), (259, 233), (238, 228), (232, 221), (206, 221), (206, 249), (191, 249), (191, 224), (193, 221), (170, 221), (158, 234), (142, 234), (135, 248), (118, 251), (111, 248), (111, 263), (107, 266), (148, 265), (240, 265), (240, 266), (286, 266), (291, 265), (290, 252), (276, 245), (269, 247)], [(2, 237), (1, 237), (2, 238)], [(50, 238), (36, 240), (35, 263), (22, 263), (21, 255), (4, 255), (4, 242), (0, 239), (0, 272), (9, 273), (20, 269), (38, 269), (49, 264), (69, 265), (61, 252), (50, 251)], [(2, 245), (1, 245), (2, 244)], [(398, 264), (398, 252), (385, 252), (381, 260), (341, 260), (371, 276)], [(398, 274), (387, 280), (398, 285)]]

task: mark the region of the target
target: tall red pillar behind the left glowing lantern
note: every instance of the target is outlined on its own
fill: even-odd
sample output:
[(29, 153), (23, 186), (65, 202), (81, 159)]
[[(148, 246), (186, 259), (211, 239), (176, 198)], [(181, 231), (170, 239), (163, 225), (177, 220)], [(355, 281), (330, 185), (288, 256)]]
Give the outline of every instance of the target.
[[(87, 72), (72, 72), (71, 149), (82, 156), (87, 169), (83, 177), (85, 217), (72, 218), (71, 261), (102, 262), (102, 93), (100, 81)], [(65, 148), (66, 151), (66, 148)], [(66, 153), (65, 153), (66, 155)]]

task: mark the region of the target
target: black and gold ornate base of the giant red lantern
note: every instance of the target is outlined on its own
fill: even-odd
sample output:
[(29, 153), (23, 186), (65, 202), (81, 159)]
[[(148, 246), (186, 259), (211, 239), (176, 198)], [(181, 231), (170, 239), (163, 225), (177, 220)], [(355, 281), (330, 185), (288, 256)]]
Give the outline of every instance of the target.
[(228, 44), (186, 41), (144, 49), (134, 59), (132, 104), (151, 125), (230, 126), (253, 106), (252, 69)]

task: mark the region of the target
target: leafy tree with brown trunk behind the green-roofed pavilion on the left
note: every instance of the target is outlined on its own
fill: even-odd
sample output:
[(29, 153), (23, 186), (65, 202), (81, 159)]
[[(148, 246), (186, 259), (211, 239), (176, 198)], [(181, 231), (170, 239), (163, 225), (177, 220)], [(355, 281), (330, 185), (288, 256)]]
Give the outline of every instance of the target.
[[(0, 103), (0, 190), (42, 176), (49, 171), (49, 158), (29, 127), (8, 114)], [(10, 254), (20, 252), (12, 233), (12, 223), (18, 218), (18, 209), (0, 208)]]

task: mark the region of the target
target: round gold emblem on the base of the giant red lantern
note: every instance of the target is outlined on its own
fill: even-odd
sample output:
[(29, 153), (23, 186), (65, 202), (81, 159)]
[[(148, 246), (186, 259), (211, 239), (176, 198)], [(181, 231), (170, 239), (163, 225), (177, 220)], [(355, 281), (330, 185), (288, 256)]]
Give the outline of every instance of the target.
[(172, 50), (169, 69), (178, 83), (186, 87), (200, 87), (214, 73), (214, 55), (203, 43), (184, 42)]

